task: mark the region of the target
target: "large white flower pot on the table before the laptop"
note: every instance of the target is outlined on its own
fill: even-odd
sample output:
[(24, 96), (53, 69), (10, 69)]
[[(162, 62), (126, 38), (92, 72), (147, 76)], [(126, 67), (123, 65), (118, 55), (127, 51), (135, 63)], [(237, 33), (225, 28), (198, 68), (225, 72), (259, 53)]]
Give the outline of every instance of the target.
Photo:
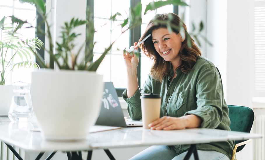
[(33, 112), (47, 140), (85, 139), (99, 114), (102, 75), (88, 71), (32, 72)]

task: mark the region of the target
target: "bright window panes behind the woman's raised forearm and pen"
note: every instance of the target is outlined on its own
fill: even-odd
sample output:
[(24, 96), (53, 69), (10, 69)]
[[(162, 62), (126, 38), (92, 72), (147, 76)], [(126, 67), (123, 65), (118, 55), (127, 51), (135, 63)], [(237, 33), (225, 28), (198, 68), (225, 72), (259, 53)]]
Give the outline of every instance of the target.
[[(141, 2), (142, 15), (144, 13), (145, 6), (151, 2), (151, 0), (96, 0), (94, 1), (94, 24), (95, 32), (94, 41), (96, 42), (94, 47), (94, 60), (99, 58), (104, 48), (113, 42), (121, 33), (121, 20), (117, 17), (117, 21), (109, 20), (109, 18), (115, 13), (119, 12), (125, 18), (129, 15), (130, 6), (135, 6), (138, 2)], [(104, 5), (102, 5), (104, 3)], [(138, 41), (143, 34), (148, 22), (157, 13), (177, 13), (177, 6), (168, 5), (159, 8), (155, 11), (147, 13), (143, 17), (143, 23), (138, 28), (125, 32), (117, 39), (111, 51), (106, 55), (103, 62), (99, 66), (97, 73), (103, 74), (103, 81), (112, 81), (116, 87), (118, 96), (121, 96), (124, 89), (127, 87), (127, 73), (126, 67), (122, 57), (122, 50), (125, 47), (133, 45), (134, 41)], [(138, 82), (142, 87), (145, 79), (150, 72), (152, 61), (146, 57), (143, 53), (139, 58), (138, 65)]]

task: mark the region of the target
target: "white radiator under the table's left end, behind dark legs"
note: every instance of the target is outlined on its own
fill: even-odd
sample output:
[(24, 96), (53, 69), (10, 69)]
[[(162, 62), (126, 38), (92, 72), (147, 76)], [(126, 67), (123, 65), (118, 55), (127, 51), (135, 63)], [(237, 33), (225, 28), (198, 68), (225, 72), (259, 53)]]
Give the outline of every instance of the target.
[[(14, 147), (14, 146), (13, 146), (13, 148), (17, 151), (17, 153), (19, 153), (21, 158), (25, 159), (25, 151), (24, 150), (19, 149), (18, 147)], [(0, 160), (18, 160), (15, 157), (15, 155), (10, 151), (10, 149), (8, 149), (6, 144), (2, 141), (0, 144)]]

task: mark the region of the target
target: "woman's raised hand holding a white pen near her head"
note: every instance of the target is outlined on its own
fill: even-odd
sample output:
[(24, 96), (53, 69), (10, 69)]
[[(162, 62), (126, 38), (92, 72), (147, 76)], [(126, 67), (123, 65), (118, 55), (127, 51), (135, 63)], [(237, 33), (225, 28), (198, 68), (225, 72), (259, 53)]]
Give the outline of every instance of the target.
[[(137, 42), (134, 42), (134, 46), (136, 45), (137, 45)], [(136, 47), (135, 49), (138, 49), (138, 47)], [(133, 70), (137, 69), (139, 59), (134, 54), (134, 52), (133, 54), (130, 54), (129, 52), (123, 53), (123, 58), (125, 60), (125, 65), (127, 69), (133, 69)]]

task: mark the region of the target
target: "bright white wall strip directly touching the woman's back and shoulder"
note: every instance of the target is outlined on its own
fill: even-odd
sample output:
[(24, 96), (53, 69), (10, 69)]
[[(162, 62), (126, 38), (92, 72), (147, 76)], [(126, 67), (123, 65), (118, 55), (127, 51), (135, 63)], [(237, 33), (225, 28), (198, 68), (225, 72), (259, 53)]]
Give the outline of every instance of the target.
[(206, 37), (213, 44), (206, 44), (206, 57), (220, 71), (227, 100), (227, 0), (208, 0), (206, 6)]

